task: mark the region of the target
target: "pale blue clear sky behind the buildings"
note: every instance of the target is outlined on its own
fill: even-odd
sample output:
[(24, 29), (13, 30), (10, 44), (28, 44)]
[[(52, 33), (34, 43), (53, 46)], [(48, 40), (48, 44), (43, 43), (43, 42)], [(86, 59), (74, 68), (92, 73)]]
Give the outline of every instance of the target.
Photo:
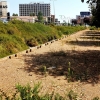
[[(13, 13), (19, 14), (19, 4), (33, 3), (50, 3), (51, 14), (55, 14), (60, 21), (66, 22), (76, 15), (80, 15), (81, 11), (89, 11), (86, 0), (84, 3), (81, 0), (6, 0), (8, 4), (8, 12), (12, 16)], [(54, 3), (54, 5), (53, 5)]]

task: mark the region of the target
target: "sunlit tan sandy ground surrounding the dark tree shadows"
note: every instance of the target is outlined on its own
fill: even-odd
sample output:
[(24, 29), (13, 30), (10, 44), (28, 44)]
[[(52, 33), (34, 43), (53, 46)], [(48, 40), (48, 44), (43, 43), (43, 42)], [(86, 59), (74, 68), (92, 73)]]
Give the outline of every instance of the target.
[[(68, 92), (72, 89), (80, 95), (82, 100), (91, 100), (91, 98), (95, 96), (100, 97), (99, 81), (96, 84), (80, 81), (68, 83), (64, 75), (47, 75), (45, 77), (36, 73), (33, 69), (28, 70), (31, 67), (31, 65), (36, 65), (34, 61), (31, 63), (31, 60), (35, 57), (35, 55), (43, 55), (48, 52), (57, 52), (59, 50), (74, 50), (77, 52), (85, 52), (89, 50), (99, 51), (99, 46), (88, 45), (87, 43), (83, 45), (69, 43), (70, 41), (85, 41), (85, 39), (80, 39), (79, 37), (86, 31), (87, 30), (77, 32), (76, 34), (70, 35), (59, 41), (54, 41), (53, 43), (50, 42), (46, 46), (43, 44), (42, 47), (39, 49), (37, 49), (37, 47), (31, 48), (32, 52), (29, 53), (23, 51), (21, 53), (18, 53), (17, 57), (14, 57), (14, 55), (12, 55), (11, 59), (9, 59), (9, 57), (0, 59), (0, 89), (2, 89), (10, 95), (15, 90), (15, 85), (18, 83), (21, 85), (29, 83), (31, 86), (33, 86), (34, 83), (42, 82), (43, 92), (50, 92), (52, 90), (55, 90), (60, 92), (60, 94), (64, 94), (66, 91)], [(82, 94), (84, 94), (84, 96), (81, 96)]]

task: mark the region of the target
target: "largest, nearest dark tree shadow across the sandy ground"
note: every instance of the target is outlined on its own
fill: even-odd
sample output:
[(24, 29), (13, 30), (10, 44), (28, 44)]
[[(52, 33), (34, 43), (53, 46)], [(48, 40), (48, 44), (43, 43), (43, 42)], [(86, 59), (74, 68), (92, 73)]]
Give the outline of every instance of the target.
[(100, 51), (59, 51), (40, 55), (26, 55), (24, 68), (36, 74), (45, 71), (52, 76), (66, 76), (71, 81), (98, 83), (100, 75)]

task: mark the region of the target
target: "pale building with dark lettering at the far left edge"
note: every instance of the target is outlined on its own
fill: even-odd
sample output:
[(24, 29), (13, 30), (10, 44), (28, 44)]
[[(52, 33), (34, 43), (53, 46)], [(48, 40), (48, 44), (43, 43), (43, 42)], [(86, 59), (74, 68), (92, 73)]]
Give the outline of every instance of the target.
[(7, 1), (0, 1), (0, 17), (7, 16)]

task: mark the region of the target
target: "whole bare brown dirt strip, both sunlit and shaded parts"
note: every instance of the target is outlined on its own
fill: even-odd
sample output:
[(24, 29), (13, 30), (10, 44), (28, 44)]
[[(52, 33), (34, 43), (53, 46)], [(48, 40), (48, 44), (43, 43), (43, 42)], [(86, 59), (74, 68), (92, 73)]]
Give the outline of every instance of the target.
[[(18, 83), (34, 86), (34, 83), (42, 82), (43, 93), (54, 90), (63, 95), (72, 89), (82, 100), (100, 97), (100, 42), (96, 36), (99, 37), (99, 32), (84, 30), (43, 44), (41, 48), (30, 48), (28, 53), (20, 52), (17, 57), (11, 55), (11, 58), (0, 59), (0, 89), (11, 95)], [(81, 81), (75, 77), (68, 83), (69, 63), (78, 75), (85, 73), (87, 77), (82, 77)], [(46, 77), (43, 66), (47, 67)]]

